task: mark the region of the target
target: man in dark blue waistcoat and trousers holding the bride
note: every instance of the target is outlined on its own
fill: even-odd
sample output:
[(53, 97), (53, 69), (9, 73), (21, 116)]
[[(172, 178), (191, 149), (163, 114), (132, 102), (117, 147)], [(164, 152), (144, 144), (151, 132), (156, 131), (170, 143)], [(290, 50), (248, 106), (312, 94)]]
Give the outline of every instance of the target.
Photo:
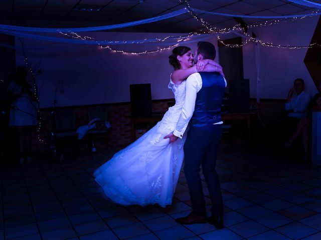
[[(215, 58), (212, 43), (200, 41), (194, 62)], [(223, 200), (218, 175), (215, 170), (217, 148), (221, 139), (221, 105), (226, 87), (225, 78), (218, 72), (196, 72), (186, 80), (186, 97), (180, 119), (174, 132), (166, 138), (170, 143), (182, 138), (190, 121), (190, 129), (184, 145), (184, 173), (189, 186), (193, 211), (177, 218), (181, 224), (206, 223), (223, 228)], [(200, 166), (205, 176), (213, 203), (207, 218)]]

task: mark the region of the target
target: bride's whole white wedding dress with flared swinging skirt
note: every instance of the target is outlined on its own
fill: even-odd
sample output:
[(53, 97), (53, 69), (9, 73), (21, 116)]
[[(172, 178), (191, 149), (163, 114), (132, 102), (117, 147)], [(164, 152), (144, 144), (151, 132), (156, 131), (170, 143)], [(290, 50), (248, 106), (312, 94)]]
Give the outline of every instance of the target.
[(171, 144), (164, 136), (175, 129), (181, 115), (185, 82), (175, 85), (170, 81), (175, 105), (154, 127), (94, 172), (95, 180), (114, 202), (142, 206), (157, 203), (162, 207), (172, 203), (184, 158), (186, 134)]

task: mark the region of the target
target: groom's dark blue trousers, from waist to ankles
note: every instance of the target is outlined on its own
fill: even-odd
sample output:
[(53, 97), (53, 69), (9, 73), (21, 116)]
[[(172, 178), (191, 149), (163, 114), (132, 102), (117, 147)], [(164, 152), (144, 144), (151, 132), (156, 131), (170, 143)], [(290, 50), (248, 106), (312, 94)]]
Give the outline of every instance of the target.
[(212, 215), (223, 213), (220, 181), (215, 170), (216, 155), (222, 134), (221, 124), (191, 127), (184, 144), (184, 172), (191, 195), (193, 213), (206, 216), (200, 166), (212, 199)]

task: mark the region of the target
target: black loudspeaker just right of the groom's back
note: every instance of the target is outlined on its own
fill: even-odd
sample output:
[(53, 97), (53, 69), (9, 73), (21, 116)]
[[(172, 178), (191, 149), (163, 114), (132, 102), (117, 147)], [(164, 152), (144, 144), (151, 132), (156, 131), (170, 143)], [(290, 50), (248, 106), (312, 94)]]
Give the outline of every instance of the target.
[(251, 107), (249, 79), (229, 80), (229, 90), (229, 111), (249, 112)]

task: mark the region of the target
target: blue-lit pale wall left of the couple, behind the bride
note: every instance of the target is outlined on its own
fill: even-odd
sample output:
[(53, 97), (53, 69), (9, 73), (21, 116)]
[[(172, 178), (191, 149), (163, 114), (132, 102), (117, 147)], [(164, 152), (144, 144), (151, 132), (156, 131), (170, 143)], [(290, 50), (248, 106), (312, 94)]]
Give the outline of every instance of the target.
[[(143, 39), (173, 35), (173, 33), (117, 33), (95, 32), (81, 33), (94, 36), (96, 39)], [(178, 35), (178, 34), (177, 34)], [(194, 50), (197, 41), (207, 40), (217, 46), (217, 39), (211, 35), (192, 38), (190, 42), (182, 42)], [(120, 45), (114, 48), (127, 50), (155, 49), (161, 44)], [(20, 41), (16, 38), (16, 45)], [(24, 46), (29, 61), (34, 69), (41, 70), (37, 75), (42, 107), (53, 106), (55, 89), (58, 85), (57, 106), (85, 105), (130, 100), (129, 84), (151, 83), (152, 99), (173, 98), (168, 88), (173, 67), (168, 56), (172, 49), (157, 53), (128, 55), (111, 52), (91, 45), (73, 45), (24, 39)], [(23, 65), (23, 57), (17, 51), (17, 65)]]

